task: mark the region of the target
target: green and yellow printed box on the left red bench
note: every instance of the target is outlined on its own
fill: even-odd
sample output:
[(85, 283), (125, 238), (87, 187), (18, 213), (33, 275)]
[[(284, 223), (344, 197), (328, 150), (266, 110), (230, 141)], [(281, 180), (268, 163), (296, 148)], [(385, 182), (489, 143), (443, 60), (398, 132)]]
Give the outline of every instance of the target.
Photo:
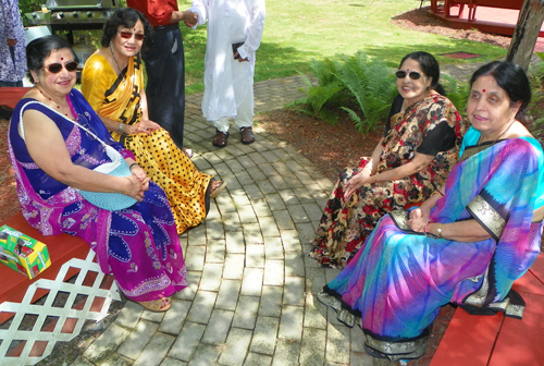
[(0, 263), (33, 279), (51, 265), (51, 258), (46, 244), (3, 225), (0, 228)]

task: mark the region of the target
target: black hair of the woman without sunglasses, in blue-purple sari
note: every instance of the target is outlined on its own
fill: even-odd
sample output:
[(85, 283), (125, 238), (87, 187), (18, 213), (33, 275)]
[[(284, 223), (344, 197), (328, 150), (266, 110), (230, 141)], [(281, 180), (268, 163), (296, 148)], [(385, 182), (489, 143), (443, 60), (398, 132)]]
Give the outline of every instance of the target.
[(531, 85), (523, 69), (508, 61), (493, 61), (478, 69), (470, 77), (470, 87), (480, 76), (493, 76), (497, 85), (506, 91), (514, 107), (521, 101), (516, 119), (529, 126), (532, 121), (528, 114), (531, 101)]

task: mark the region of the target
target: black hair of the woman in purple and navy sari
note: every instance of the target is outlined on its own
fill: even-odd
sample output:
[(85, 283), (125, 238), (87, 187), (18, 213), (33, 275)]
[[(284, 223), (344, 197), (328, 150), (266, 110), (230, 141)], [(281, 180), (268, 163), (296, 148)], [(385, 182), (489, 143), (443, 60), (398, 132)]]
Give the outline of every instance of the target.
[(34, 39), (26, 46), (26, 66), (28, 69), (28, 78), (34, 80), (30, 71), (35, 71), (38, 75), (44, 68), (44, 60), (46, 60), (52, 51), (69, 49), (74, 57), (74, 61), (79, 61), (75, 54), (72, 46), (67, 40), (59, 36), (45, 36)]

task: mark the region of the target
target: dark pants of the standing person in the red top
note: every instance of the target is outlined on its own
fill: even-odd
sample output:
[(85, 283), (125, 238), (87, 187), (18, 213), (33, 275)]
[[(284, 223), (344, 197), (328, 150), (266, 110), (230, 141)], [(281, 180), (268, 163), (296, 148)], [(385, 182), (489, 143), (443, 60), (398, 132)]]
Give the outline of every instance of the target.
[(146, 63), (149, 119), (170, 132), (183, 148), (185, 59), (177, 24), (156, 27), (153, 45), (141, 54)]

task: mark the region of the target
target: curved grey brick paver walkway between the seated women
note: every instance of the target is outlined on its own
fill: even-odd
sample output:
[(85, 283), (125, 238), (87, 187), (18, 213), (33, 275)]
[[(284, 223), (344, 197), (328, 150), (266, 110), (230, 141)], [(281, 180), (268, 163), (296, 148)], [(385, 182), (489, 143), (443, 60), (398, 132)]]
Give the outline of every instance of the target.
[[(297, 76), (257, 83), (256, 112), (283, 108), (304, 86)], [(181, 236), (189, 286), (166, 313), (126, 303), (74, 365), (397, 365), (367, 355), (360, 328), (314, 297), (338, 273), (307, 257), (331, 181), (259, 126), (251, 145), (232, 129), (227, 147), (213, 147), (200, 99), (187, 98), (186, 146), (228, 185)]]

